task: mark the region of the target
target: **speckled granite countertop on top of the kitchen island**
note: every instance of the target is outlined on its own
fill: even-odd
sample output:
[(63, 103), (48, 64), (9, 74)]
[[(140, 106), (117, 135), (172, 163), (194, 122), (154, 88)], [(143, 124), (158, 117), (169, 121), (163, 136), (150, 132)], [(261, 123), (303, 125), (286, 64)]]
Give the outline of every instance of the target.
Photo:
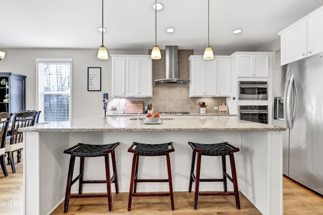
[[(26, 128), (26, 132), (177, 132), (177, 131), (285, 131), (286, 128), (254, 123), (234, 118), (174, 118), (161, 124), (145, 125), (131, 117), (80, 118)], [(161, 118), (160, 118), (161, 119)]]

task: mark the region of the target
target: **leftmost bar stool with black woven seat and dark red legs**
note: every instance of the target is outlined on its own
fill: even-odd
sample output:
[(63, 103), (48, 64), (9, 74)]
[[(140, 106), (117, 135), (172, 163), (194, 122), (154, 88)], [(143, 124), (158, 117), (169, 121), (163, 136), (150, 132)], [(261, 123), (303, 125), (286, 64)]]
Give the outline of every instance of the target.
[[(115, 183), (116, 193), (119, 193), (118, 188), (118, 176), (116, 165), (115, 148), (119, 145), (119, 142), (106, 144), (106, 145), (91, 145), (78, 143), (77, 145), (64, 150), (64, 153), (70, 154), (70, 167), (67, 177), (66, 194), (64, 202), (64, 213), (68, 211), (70, 198), (93, 198), (93, 197), (107, 197), (107, 203), (109, 205), (109, 211), (112, 211), (112, 195), (111, 195), (111, 183)], [(112, 157), (113, 175), (110, 178), (110, 165), (109, 154)], [(104, 156), (105, 159), (105, 177), (106, 180), (84, 181), (84, 157), (98, 157)], [(75, 164), (75, 157), (80, 157), (80, 174), (73, 180), (73, 170)], [(79, 180), (79, 193), (71, 195), (72, 185)], [(106, 194), (82, 194), (83, 184), (93, 183), (106, 183)]]

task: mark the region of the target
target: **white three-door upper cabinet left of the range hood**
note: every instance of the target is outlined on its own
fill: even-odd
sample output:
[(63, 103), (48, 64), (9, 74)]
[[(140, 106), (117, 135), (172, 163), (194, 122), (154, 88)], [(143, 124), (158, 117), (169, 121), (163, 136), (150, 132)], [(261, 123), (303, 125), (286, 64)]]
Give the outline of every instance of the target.
[(152, 64), (150, 56), (113, 55), (112, 80), (113, 97), (151, 97)]

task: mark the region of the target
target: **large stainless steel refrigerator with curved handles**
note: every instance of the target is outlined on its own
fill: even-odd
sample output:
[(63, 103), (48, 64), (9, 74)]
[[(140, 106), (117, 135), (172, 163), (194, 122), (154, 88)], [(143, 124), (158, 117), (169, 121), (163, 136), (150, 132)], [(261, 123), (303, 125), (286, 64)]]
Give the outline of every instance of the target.
[(323, 52), (273, 72), (273, 124), (287, 128), (283, 174), (323, 195)]

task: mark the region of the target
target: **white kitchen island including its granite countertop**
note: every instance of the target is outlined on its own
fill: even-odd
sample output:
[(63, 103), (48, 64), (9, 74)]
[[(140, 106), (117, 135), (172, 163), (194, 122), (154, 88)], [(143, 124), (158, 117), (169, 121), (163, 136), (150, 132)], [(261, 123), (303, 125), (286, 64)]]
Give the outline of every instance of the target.
[[(170, 153), (170, 157), (175, 192), (188, 191), (192, 154), (188, 141), (227, 141), (240, 148), (240, 152), (235, 153), (239, 190), (262, 214), (283, 214), (281, 131), (284, 130), (282, 127), (225, 117), (174, 118), (163, 120), (160, 125), (143, 125), (141, 121), (130, 120), (129, 117), (84, 118), (22, 128), (25, 135), (24, 214), (49, 214), (64, 200), (70, 155), (63, 151), (79, 142), (120, 142), (116, 148), (119, 190), (129, 192), (133, 154), (127, 149), (134, 141), (173, 142), (175, 152)], [(143, 157), (140, 162), (141, 178), (167, 178), (163, 158)], [(78, 165), (77, 158), (75, 176)], [(227, 169), (230, 170), (230, 167)], [(85, 180), (104, 180), (104, 158), (85, 159), (84, 171)], [(202, 156), (201, 177), (221, 178), (221, 171), (219, 157)], [(228, 185), (231, 186), (228, 189), (233, 190), (230, 182)], [(77, 192), (77, 187), (76, 183), (72, 193)], [(167, 183), (138, 184), (139, 192), (168, 190)], [(223, 184), (204, 182), (200, 184), (200, 190), (223, 190)], [(85, 184), (83, 192), (106, 192), (106, 186)]]

